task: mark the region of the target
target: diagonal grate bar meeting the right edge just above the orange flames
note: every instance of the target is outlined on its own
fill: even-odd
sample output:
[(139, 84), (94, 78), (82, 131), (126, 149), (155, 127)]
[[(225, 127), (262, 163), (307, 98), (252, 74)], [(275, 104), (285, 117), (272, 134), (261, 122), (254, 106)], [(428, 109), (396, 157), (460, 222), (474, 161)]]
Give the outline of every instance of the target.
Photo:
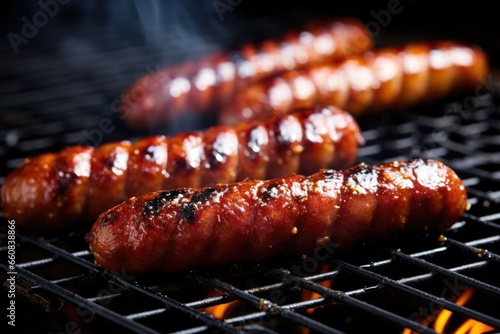
[[(443, 268), (441, 266), (435, 265), (435, 264), (427, 262), (425, 260), (422, 260), (419, 258), (413, 258), (413, 257), (411, 257), (411, 255), (404, 254), (400, 251), (391, 250), (390, 252), (394, 257), (400, 258), (400, 259), (402, 259), (408, 263), (411, 263), (417, 267), (424, 268), (424, 269), (429, 270), (433, 273), (437, 273), (437, 274), (446, 276), (448, 278), (457, 279), (459, 281), (467, 283), (468, 285), (470, 285), (472, 287), (478, 288), (480, 290), (484, 290), (492, 295), (500, 296), (500, 288), (498, 288), (498, 287), (487, 284), (485, 282), (474, 279), (472, 277), (462, 275), (458, 272), (454, 272), (453, 270)], [(480, 262), (476, 263), (475, 265), (476, 266), (484, 266), (486, 264), (488, 264), (487, 261), (480, 261)], [(467, 268), (467, 266), (461, 266), (461, 267)]]

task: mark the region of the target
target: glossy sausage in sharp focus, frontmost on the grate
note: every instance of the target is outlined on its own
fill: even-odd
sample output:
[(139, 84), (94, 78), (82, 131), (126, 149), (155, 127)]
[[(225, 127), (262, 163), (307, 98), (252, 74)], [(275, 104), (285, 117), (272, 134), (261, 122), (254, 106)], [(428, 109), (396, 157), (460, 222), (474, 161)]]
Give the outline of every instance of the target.
[(102, 213), (86, 240), (104, 268), (179, 271), (443, 231), (466, 206), (452, 169), (415, 159), (148, 193)]

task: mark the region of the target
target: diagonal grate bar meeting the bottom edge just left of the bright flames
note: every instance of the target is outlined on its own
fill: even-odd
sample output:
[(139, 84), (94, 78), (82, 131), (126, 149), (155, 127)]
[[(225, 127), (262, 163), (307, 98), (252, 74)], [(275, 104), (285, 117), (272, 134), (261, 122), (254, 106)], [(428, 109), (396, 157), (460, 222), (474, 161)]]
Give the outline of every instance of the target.
[(296, 284), (297, 286), (301, 286), (305, 289), (316, 292), (327, 299), (336, 300), (344, 305), (350, 306), (354, 309), (360, 310), (372, 316), (379, 317), (386, 321), (398, 324), (406, 328), (413, 329), (418, 332), (434, 333), (432, 330), (430, 331), (427, 327), (422, 326), (417, 322), (414, 322), (412, 320), (401, 317), (397, 314), (394, 314), (382, 308), (376, 307), (374, 305), (371, 305), (369, 303), (351, 297), (343, 291), (332, 290), (322, 285), (315, 284), (305, 278), (293, 275), (290, 271), (286, 269), (270, 268), (269, 273), (276, 277), (279, 277), (283, 281)]

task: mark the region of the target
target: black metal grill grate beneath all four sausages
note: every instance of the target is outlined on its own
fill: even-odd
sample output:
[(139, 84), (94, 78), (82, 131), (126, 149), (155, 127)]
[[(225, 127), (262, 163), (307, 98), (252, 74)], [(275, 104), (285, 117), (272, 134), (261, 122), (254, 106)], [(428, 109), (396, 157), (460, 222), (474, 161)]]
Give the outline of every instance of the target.
[[(241, 37), (250, 27), (254, 35), (277, 33), (287, 23), (272, 18), (225, 22), (224, 38)], [(2, 50), (2, 60), (11, 66), (3, 69), (0, 85), (0, 184), (27, 156), (88, 140), (103, 118), (111, 120), (114, 131), (95, 140), (140, 135), (122, 126), (112, 106), (133, 78), (165, 62), (164, 50), (123, 43), (119, 31), (99, 37), (99, 31), (71, 31), (70, 36), (92, 38), (64, 39), (69, 48), (64, 52), (39, 49), (36, 40), (16, 57)], [(159, 42), (171, 43), (168, 36), (160, 37)], [(204, 39), (208, 42), (200, 46), (199, 36), (190, 40), (186, 35), (170, 61), (221, 47), (211, 33)], [(144, 66), (137, 69), (137, 63)], [(6, 279), (15, 271), (17, 326), (25, 332), (94, 333), (107, 326), (117, 333), (356, 333), (374, 328), (432, 333), (438, 331), (438, 313), (447, 309), (453, 313), (447, 332), (469, 318), (500, 330), (500, 99), (494, 88), (406, 113), (359, 119), (366, 140), (359, 161), (437, 158), (463, 179), (471, 208), (444, 236), (402, 235), (299, 260), (130, 275), (93, 264), (83, 240), (86, 226), (38, 235), (18, 230), (12, 270), (6, 260), (7, 222), (0, 217), (0, 273)], [(4, 288), (7, 294), (8, 281)], [(471, 299), (457, 305), (469, 289)], [(223, 320), (208, 313), (217, 305), (229, 305)]]

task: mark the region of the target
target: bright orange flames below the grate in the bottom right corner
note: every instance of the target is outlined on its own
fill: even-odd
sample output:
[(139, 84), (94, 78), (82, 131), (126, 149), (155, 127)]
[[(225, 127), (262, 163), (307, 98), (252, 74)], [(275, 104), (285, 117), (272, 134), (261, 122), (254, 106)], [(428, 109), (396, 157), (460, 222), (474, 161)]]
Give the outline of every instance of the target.
[[(456, 304), (459, 306), (465, 305), (469, 299), (474, 294), (473, 288), (468, 288), (465, 290), (460, 297), (457, 299)], [(449, 310), (442, 310), (436, 320), (434, 321), (434, 330), (438, 333), (445, 333), (445, 328), (450, 322), (450, 318), (453, 313)], [(482, 322), (479, 322), (474, 319), (468, 319), (464, 321), (453, 333), (454, 334), (481, 334), (487, 331), (493, 330), (493, 327), (490, 327)], [(411, 331), (409, 328), (405, 328), (402, 334), (413, 334), (415, 332)]]

